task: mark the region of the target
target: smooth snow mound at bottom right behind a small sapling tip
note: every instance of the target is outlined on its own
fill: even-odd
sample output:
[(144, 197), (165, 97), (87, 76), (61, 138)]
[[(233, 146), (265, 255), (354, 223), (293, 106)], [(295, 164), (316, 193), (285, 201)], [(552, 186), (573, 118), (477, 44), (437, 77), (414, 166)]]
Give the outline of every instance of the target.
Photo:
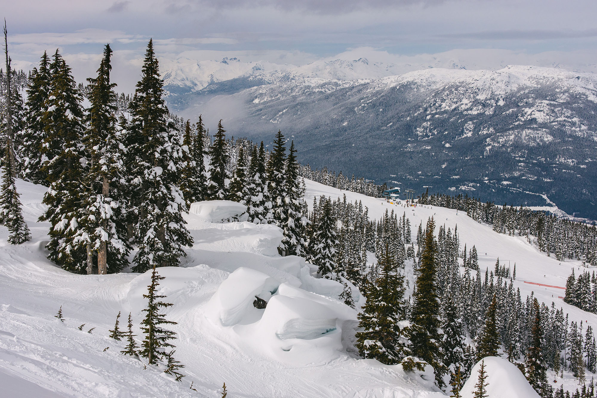
[[(488, 385), (485, 388), (489, 398), (540, 398), (539, 394), (528, 384), (525, 376), (515, 365), (499, 357), (485, 357), (485, 371)], [(481, 362), (476, 363), (470, 378), (464, 383), (460, 394), (463, 398), (472, 398), (475, 384), (478, 382)]]

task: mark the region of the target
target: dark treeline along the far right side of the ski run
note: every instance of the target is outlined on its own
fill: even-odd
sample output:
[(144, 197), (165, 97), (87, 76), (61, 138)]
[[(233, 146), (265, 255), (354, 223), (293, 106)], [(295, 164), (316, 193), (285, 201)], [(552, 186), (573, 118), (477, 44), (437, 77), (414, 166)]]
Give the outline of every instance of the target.
[(553, 254), (558, 261), (578, 259), (583, 264), (597, 265), (597, 228), (594, 225), (560, 219), (522, 206), (482, 203), (461, 194), (429, 195), (427, 190), (418, 203), (458, 209), (477, 222), (493, 225), (494, 231), (500, 234), (525, 236), (539, 250), (548, 256)]

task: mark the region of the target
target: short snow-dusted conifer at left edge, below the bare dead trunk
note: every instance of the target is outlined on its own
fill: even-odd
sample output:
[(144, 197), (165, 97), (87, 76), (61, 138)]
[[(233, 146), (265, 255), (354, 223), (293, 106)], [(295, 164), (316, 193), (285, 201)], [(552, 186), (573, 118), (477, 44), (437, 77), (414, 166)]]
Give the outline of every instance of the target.
[(15, 185), (13, 166), (10, 161), (11, 145), (10, 140), (6, 140), (4, 149), (4, 158), (2, 160), (2, 193), (0, 194), (0, 218), (8, 228), (8, 243), (21, 244), (31, 238), (29, 227), (23, 219), (21, 212), (21, 201), (19, 192)]

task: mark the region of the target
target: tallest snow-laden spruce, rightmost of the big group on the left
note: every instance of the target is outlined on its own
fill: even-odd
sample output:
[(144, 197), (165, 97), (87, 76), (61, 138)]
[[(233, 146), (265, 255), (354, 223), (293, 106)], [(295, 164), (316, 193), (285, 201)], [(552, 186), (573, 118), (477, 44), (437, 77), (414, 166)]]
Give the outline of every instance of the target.
[(184, 168), (181, 139), (173, 120), (168, 119), (152, 40), (142, 72), (130, 105), (133, 119), (128, 133), (139, 246), (133, 259), (134, 272), (177, 266), (179, 258), (186, 255), (183, 247), (192, 244), (182, 218), (187, 207), (178, 186)]

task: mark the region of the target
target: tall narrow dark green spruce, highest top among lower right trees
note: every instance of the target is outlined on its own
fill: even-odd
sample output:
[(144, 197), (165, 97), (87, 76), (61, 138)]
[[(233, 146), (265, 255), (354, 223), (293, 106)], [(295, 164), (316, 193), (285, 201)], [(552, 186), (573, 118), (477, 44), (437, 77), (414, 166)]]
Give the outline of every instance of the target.
[(437, 286), (438, 249), (433, 238), (435, 221), (430, 218), (424, 235), (424, 249), (421, 252), (421, 266), (417, 270), (413, 308), (411, 310), (411, 342), (413, 355), (429, 363), (435, 371), (435, 380), (443, 387), (446, 372), (442, 358), (444, 353), (441, 319), (439, 317), (439, 295)]

